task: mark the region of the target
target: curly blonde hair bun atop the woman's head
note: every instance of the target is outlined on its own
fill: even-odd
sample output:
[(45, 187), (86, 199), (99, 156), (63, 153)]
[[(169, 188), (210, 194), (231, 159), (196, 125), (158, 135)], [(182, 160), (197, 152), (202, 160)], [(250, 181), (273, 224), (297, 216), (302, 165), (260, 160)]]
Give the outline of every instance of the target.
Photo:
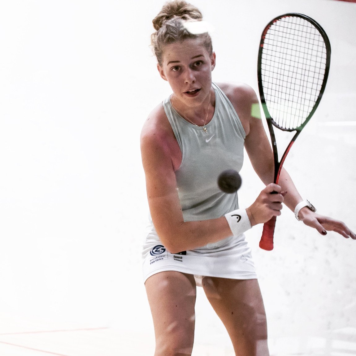
[(163, 5), (159, 14), (153, 19), (153, 27), (158, 31), (164, 22), (178, 17), (182, 20), (198, 20), (203, 19), (200, 10), (192, 4), (184, 0), (168, 1)]

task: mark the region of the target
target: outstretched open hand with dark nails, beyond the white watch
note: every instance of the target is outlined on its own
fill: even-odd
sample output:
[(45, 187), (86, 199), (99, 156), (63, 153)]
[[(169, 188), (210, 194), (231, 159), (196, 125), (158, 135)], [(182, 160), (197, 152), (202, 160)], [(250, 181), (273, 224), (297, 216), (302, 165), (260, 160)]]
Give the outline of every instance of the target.
[(303, 221), (305, 225), (314, 227), (321, 235), (326, 235), (326, 231), (335, 231), (346, 239), (356, 240), (356, 234), (352, 232), (342, 221), (329, 218), (328, 216), (313, 213), (308, 208), (300, 209), (299, 220)]

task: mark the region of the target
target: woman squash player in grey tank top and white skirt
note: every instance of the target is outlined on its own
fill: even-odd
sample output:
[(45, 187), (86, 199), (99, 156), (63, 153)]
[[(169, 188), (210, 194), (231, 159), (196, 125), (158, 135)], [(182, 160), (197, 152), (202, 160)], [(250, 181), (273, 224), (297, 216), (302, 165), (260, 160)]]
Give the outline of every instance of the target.
[[(141, 135), (152, 218), (143, 271), (155, 356), (192, 353), (197, 283), (236, 355), (266, 356), (265, 309), (244, 232), (280, 215), (282, 203), (294, 211), (303, 199), (284, 169), (280, 184), (271, 183), (272, 150), (259, 115), (251, 115), (255, 92), (245, 84), (212, 83), (215, 53), (201, 20), (185, 1), (168, 2), (153, 20), (158, 72), (173, 92), (148, 116)], [(200, 34), (190, 30), (192, 22)], [(266, 188), (239, 208), (237, 193), (221, 192), (216, 179), (225, 169), (241, 169), (244, 147)], [(344, 223), (305, 205), (297, 211), (304, 224), (356, 239)]]

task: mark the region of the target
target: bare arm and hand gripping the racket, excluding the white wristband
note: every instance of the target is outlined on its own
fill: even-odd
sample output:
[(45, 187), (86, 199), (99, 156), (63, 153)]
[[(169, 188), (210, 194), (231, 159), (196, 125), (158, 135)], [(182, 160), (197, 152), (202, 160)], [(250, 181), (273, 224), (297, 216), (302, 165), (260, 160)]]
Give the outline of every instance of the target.
[[(225, 216), (202, 221), (183, 220), (174, 173), (180, 165), (181, 152), (161, 106), (152, 112), (143, 126), (141, 156), (152, 221), (168, 251), (192, 250), (232, 235)], [(281, 214), (282, 195), (269, 194), (275, 189), (280, 191), (275, 184), (268, 185), (255, 201), (253, 211), (259, 222), (264, 223), (273, 215)], [(253, 220), (250, 207), (246, 212), (251, 225), (255, 225), (257, 222)]]

